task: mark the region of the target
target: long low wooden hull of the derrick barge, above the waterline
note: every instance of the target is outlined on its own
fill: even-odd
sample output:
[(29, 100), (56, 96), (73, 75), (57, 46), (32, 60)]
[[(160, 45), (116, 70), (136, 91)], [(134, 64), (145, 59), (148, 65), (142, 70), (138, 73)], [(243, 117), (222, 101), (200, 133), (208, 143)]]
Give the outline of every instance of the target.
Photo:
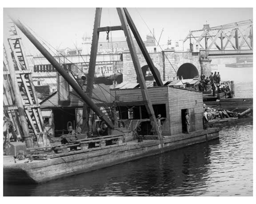
[[(106, 147), (77, 154), (60, 156), (30, 163), (4, 162), (5, 183), (41, 183), (57, 178), (113, 166), (163, 152), (176, 150), (200, 142), (219, 138), (218, 128), (200, 130), (191, 134), (164, 137), (161, 147), (159, 140), (130, 141), (122, 146)], [(13, 160), (12, 160), (13, 161)]]

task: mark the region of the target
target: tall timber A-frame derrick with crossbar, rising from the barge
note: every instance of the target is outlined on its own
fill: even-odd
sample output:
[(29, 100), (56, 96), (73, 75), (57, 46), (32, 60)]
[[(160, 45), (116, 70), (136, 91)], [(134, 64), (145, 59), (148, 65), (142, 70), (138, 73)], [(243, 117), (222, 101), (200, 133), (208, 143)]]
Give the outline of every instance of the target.
[[(136, 54), (136, 49), (134, 46), (134, 42), (132, 40), (131, 31), (136, 38), (136, 41), (140, 47), (140, 50), (142, 51), (144, 58), (146, 59), (146, 62), (148, 63), (148, 66), (156, 80), (156, 83), (158, 86), (162, 86), (163, 82), (160, 79), (160, 76), (156, 73), (156, 68), (148, 54), (148, 51), (146, 50), (146, 47), (144, 46), (144, 43), (132, 21), (131, 16), (129, 15), (126, 8), (116, 8), (117, 13), (119, 15), (119, 19), (121, 22), (121, 26), (112, 26), (112, 27), (100, 27), (100, 19), (101, 19), (101, 8), (96, 8), (96, 14), (95, 14), (95, 21), (94, 21), (94, 28), (93, 28), (93, 35), (92, 35), (92, 47), (91, 47), (91, 54), (90, 54), (90, 62), (89, 62), (89, 70), (88, 70), (88, 85), (86, 92), (88, 93), (89, 97), (92, 97), (92, 89), (93, 89), (93, 79), (94, 79), (94, 73), (95, 73), (95, 65), (96, 65), (96, 55), (97, 55), (97, 48), (98, 48), (98, 42), (99, 42), (99, 33), (103, 31), (118, 31), (123, 30), (124, 35), (126, 37), (126, 41), (129, 47), (130, 54), (132, 56), (132, 62), (136, 71), (136, 75), (138, 77), (138, 81), (140, 84), (141, 93), (143, 96), (143, 100), (146, 101), (146, 109), (149, 115), (149, 118), (152, 122), (152, 126), (154, 127), (155, 132), (159, 135), (159, 139), (162, 139), (162, 135), (159, 131), (158, 123), (156, 121), (156, 116), (153, 110), (153, 106), (150, 100), (150, 97), (148, 95), (148, 90), (146, 88), (146, 83), (143, 77), (143, 73), (140, 67), (140, 62), (138, 59), (138, 56)], [(87, 105), (84, 105), (83, 108), (83, 130), (88, 131), (88, 115), (90, 112), (90, 108), (87, 107)]]

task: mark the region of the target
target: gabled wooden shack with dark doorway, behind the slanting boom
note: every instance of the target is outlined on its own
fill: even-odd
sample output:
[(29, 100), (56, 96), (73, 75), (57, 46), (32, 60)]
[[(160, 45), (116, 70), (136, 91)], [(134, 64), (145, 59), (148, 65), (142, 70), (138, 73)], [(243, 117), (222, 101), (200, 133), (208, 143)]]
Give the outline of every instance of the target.
[[(86, 87), (84, 88), (86, 89)], [(68, 126), (76, 128), (83, 122), (83, 106), (84, 101), (72, 89), (68, 88), (65, 92), (56, 91), (52, 95), (40, 102), (42, 117), (45, 122), (46, 131), (48, 134), (60, 136), (68, 133)], [(110, 102), (109, 87), (104, 84), (94, 85), (92, 91), (92, 100), (106, 114)], [(91, 114), (94, 121), (99, 120), (96, 114)], [(95, 124), (93, 124), (95, 125)], [(93, 126), (92, 125), (92, 126)]]

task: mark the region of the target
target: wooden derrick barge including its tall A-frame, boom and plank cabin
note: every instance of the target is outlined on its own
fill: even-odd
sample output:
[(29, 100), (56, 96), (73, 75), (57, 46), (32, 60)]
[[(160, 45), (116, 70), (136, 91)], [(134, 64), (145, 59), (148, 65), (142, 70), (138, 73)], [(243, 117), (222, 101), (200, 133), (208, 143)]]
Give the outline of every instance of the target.
[[(99, 120), (104, 122), (107, 134), (96, 138), (82, 137), (81, 139), (79, 137), (83, 135), (63, 135), (61, 139), (66, 139), (68, 143), (61, 142), (61, 144), (49, 146), (47, 134), (42, 131), (40, 135), (43, 135), (43, 147), (39, 145), (35, 147), (31, 137), (23, 135), (29, 157), (14, 160), (13, 157), (4, 156), (4, 182), (40, 183), (50, 181), (207, 142), (219, 137), (218, 128), (207, 130), (203, 128), (202, 92), (164, 86), (127, 9), (117, 8), (117, 12), (122, 27), (100, 27), (101, 8), (96, 8), (86, 92), (32, 33), (19, 20), (12, 18), (15, 25), (60, 73), (63, 77), (60, 82), (67, 82), (66, 91), (68, 92), (69, 86), (71, 86), (84, 101), (84, 109), (91, 109), (99, 117)], [(105, 114), (92, 100), (92, 89), (99, 32), (111, 29), (124, 31), (140, 88), (110, 90), (113, 102), (105, 104), (109, 109), (109, 113)], [(157, 86), (155, 87), (148, 89), (146, 87), (130, 30), (156, 80)], [(18, 59), (14, 61), (17, 63)], [(13, 66), (10, 63), (9, 65)], [(62, 92), (62, 96), (63, 94), (64, 92)], [(20, 106), (18, 111), (23, 108)], [(187, 113), (190, 114), (190, 133), (184, 133)], [(88, 122), (88, 115), (89, 111), (85, 111), (83, 122)], [(161, 115), (161, 117), (158, 116), (156, 119), (156, 115)], [(26, 124), (23, 126), (25, 127)], [(35, 135), (37, 137), (36, 144), (39, 144), (40, 135)]]

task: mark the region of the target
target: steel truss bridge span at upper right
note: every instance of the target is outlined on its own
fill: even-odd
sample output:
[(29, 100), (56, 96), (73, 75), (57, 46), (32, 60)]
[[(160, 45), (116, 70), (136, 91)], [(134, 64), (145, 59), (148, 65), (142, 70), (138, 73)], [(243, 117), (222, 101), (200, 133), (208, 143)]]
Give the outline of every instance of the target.
[[(202, 30), (189, 31), (190, 47), (200, 46), (206, 56), (253, 54), (252, 19), (216, 27), (204, 25)], [(192, 48), (191, 48), (192, 51)]]

